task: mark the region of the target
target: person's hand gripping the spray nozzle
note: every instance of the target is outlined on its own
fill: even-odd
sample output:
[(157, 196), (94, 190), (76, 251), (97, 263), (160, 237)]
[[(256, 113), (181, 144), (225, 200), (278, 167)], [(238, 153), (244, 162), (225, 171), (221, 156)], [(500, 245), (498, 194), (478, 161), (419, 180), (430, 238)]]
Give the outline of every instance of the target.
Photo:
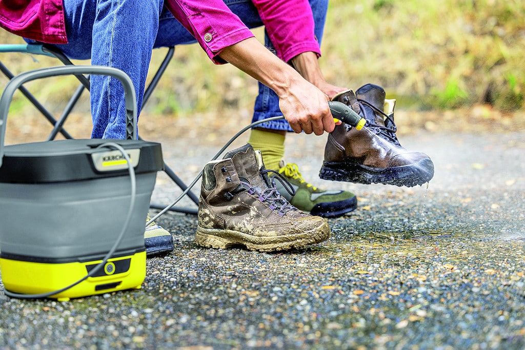
[(335, 128), (328, 96), (304, 79), (292, 82), (279, 96), (279, 108), (293, 131), (322, 135)]

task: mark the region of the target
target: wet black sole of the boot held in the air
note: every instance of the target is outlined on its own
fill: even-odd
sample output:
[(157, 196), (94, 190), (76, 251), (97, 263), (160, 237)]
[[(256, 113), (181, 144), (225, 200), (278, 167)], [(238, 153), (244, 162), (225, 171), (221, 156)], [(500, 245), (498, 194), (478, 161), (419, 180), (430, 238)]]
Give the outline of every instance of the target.
[(423, 159), (411, 165), (377, 169), (361, 164), (323, 162), (319, 177), (357, 184), (413, 187), (423, 185), (434, 177), (434, 163), (430, 159)]

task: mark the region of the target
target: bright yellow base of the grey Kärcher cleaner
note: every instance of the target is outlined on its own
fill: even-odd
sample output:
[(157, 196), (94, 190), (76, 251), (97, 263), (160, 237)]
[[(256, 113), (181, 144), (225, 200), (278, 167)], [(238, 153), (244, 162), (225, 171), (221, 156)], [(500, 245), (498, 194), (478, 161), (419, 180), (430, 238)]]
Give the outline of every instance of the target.
[[(34, 262), (0, 258), (2, 282), (6, 291), (18, 294), (49, 293), (86, 277), (102, 262)], [(49, 298), (68, 301), (70, 298), (140, 289), (146, 276), (146, 252), (111, 258), (92, 277)]]

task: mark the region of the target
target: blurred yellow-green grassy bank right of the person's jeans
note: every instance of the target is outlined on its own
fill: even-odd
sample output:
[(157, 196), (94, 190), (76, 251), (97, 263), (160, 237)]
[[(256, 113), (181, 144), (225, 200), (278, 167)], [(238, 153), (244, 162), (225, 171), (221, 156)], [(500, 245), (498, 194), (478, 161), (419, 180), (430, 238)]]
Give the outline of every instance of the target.
[(420, 108), (515, 110), (524, 107), (524, 16), (521, 1), (334, 0), (321, 62), (334, 83), (382, 84), (419, 97)]

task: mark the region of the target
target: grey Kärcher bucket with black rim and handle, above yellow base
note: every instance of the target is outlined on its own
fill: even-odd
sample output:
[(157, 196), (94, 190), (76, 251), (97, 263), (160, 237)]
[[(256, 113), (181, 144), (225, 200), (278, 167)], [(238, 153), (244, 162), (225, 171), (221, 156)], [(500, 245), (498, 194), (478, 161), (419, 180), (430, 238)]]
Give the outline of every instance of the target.
[[(131, 140), (61, 140), (4, 146), (7, 111), (14, 91), (28, 80), (77, 73), (121, 80)], [(133, 215), (114, 257), (144, 251), (144, 226), (156, 172), (163, 168), (158, 143), (135, 140), (135, 93), (122, 71), (97, 66), (53, 67), (22, 73), (0, 99), (0, 257), (35, 262), (99, 259), (113, 246), (127, 216), (131, 185), (127, 164), (97, 167), (96, 155), (114, 142), (133, 154), (137, 178)], [(111, 162), (108, 162), (110, 164)]]

